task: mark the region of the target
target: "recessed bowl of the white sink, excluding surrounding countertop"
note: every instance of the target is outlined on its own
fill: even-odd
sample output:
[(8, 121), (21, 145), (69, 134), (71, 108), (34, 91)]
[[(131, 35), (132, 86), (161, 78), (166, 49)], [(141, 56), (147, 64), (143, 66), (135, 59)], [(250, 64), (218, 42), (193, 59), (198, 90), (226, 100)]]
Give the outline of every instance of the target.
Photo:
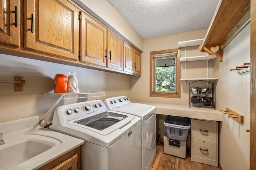
[(55, 138), (37, 134), (22, 134), (7, 138), (4, 142), (0, 146), (0, 169), (13, 168), (62, 144)]

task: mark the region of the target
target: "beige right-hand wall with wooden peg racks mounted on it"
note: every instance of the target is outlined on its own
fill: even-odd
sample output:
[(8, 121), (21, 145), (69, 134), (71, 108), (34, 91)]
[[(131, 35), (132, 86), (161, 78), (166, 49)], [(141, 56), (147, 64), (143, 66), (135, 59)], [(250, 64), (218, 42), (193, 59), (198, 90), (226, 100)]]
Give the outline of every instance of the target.
[(250, 72), (230, 71), (250, 62), (250, 24), (223, 51), (223, 62), (214, 62), (217, 109), (226, 107), (244, 115), (244, 123), (223, 115), (220, 124), (220, 164), (223, 170), (249, 170), (250, 165)]

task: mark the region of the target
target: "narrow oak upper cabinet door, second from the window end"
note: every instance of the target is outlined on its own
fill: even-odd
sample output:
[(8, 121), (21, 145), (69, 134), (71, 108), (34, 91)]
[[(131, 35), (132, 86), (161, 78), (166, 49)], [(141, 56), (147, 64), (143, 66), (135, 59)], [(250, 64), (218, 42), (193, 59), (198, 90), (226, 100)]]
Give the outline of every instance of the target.
[(133, 56), (134, 56), (134, 49), (124, 42), (124, 71), (133, 73)]

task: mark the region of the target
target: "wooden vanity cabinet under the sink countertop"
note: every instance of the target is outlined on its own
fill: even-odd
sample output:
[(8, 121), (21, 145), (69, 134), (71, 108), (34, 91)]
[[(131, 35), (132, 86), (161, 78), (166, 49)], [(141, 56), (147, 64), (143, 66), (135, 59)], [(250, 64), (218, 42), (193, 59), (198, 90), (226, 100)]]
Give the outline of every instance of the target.
[(80, 146), (38, 168), (38, 170), (80, 170)]

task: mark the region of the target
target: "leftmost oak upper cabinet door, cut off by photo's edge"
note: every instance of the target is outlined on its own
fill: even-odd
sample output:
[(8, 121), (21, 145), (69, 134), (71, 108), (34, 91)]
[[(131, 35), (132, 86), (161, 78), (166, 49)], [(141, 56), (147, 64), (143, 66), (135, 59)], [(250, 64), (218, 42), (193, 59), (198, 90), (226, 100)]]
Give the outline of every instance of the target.
[(0, 42), (20, 46), (20, 0), (0, 0)]

